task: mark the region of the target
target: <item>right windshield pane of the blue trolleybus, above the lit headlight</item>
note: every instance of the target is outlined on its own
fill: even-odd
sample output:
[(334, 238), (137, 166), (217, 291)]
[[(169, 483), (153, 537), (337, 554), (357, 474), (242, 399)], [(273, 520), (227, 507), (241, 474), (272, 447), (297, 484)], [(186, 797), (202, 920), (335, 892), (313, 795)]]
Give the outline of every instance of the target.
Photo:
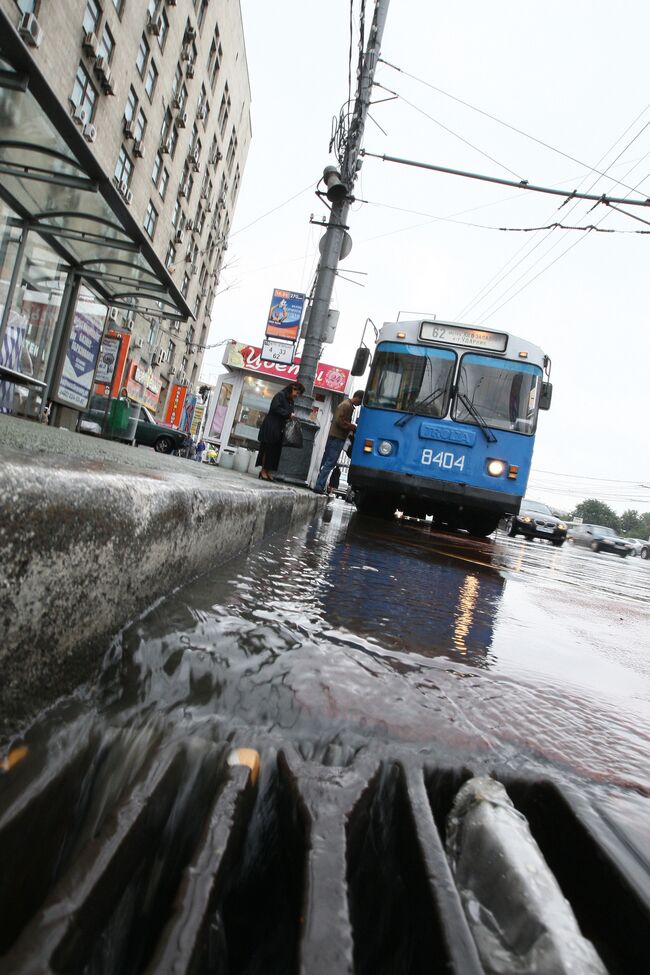
[[(488, 427), (513, 430), (531, 436), (537, 422), (537, 403), (542, 387), (542, 370), (526, 362), (464, 355), (458, 375), (453, 418), (477, 425), (478, 413)], [(466, 398), (474, 411), (463, 403)]]

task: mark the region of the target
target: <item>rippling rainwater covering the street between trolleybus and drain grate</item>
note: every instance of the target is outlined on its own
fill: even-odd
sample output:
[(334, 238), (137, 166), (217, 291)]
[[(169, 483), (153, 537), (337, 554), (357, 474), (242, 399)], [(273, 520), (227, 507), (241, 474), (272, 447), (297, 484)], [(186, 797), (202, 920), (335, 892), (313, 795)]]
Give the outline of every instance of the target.
[(648, 595), (638, 559), (334, 502), (128, 628), (101, 707), (179, 734), (550, 762), (650, 795)]

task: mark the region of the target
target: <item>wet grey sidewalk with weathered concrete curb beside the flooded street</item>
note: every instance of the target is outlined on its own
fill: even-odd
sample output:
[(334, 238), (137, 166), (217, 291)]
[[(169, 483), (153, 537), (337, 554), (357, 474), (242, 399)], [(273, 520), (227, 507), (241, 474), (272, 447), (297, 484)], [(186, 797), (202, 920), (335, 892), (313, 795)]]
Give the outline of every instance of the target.
[(321, 504), (0, 415), (0, 738), (91, 677), (139, 612)]

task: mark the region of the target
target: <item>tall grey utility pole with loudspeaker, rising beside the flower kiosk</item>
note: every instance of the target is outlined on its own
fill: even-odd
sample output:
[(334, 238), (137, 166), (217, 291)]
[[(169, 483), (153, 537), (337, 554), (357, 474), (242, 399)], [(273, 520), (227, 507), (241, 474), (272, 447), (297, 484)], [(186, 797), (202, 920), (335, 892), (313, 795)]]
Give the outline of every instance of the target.
[(282, 453), (279, 473), (283, 480), (304, 484), (309, 475), (314, 437), (317, 424), (310, 421), (314, 397), (316, 368), (321, 355), (332, 291), (341, 259), (341, 249), (346, 241), (347, 219), (352, 203), (352, 190), (360, 168), (366, 117), (370, 107), (375, 69), (381, 53), (381, 41), (390, 0), (376, 0), (368, 42), (363, 56), (357, 96), (341, 171), (327, 166), (323, 172), (326, 195), (332, 204), (327, 230), (321, 240), (321, 258), (316, 274), (313, 297), (309, 305), (309, 324), (304, 338), (298, 379), (305, 387), (305, 395), (296, 401), (296, 416), (303, 428), (304, 447), (301, 451), (285, 450)]

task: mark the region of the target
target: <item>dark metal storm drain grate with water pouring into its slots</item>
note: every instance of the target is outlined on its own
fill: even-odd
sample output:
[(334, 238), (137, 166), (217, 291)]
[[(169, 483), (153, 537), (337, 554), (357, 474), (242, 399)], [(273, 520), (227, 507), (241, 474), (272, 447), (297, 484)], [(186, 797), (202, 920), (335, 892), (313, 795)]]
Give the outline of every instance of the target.
[[(470, 770), (287, 748), (258, 776), (189, 739), (115, 787), (128, 748), (91, 737), (24, 789), (2, 784), (0, 971), (488, 971), (445, 851)], [(579, 794), (496, 778), (607, 971), (649, 971), (648, 865)]]

